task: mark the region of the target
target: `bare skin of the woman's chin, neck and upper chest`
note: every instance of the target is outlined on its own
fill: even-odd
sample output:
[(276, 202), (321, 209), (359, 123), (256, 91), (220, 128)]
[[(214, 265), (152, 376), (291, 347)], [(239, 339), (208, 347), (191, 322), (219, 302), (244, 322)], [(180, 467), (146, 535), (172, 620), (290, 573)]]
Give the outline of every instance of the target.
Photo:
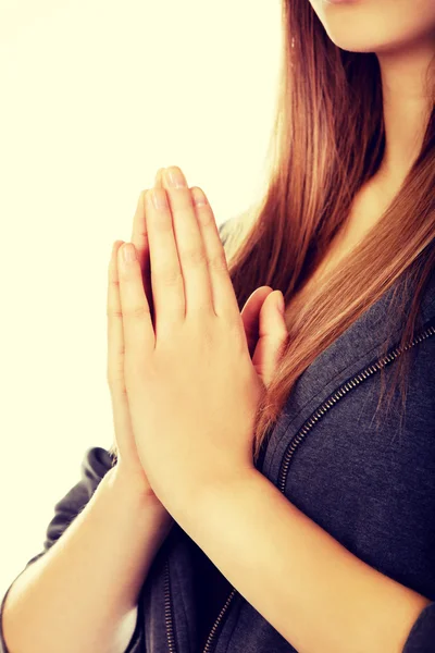
[[(320, 278), (353, 249), (399, 190), (423, 143), (433, 107), (426, 72), (435, 65), (433, 0), (309, 1), (336, 46), (375, 52), (382, 76), (386, 148), (380, 170), (355, 197), (346, 224), (297, 295), (298, 304), (307, 303)], [(296, 300), (291, 308), (296, 308)]]

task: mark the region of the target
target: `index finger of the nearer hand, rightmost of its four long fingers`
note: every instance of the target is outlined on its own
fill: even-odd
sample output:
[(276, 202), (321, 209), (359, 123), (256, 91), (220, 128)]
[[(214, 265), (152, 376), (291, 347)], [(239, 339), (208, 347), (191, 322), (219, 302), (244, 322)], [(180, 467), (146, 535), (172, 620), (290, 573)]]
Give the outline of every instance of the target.
[(240, 311), (213, 211), (201, 188), (194, 186), (191, 194), (196, 202), (199, 199), (206, 201), (206, 204), (196, 204), (195, 209), (206, 249), (214, 311), (216, 315), (226, 316), (235, 323), (240, 320)]

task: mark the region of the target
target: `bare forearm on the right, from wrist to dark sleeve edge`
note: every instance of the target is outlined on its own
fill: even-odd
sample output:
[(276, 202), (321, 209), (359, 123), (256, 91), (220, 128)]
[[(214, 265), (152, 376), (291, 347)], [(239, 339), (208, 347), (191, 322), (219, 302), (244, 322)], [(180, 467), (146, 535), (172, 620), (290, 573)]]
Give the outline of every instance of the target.
[(204, 486), (175, 518), (303, 653), (399, 653), (430, 603), (351, 554), (258, 471)]

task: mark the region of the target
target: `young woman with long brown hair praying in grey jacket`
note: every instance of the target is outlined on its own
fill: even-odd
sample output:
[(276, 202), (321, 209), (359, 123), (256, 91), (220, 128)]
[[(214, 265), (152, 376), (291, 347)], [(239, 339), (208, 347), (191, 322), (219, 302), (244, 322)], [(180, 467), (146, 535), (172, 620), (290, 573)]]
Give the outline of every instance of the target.
[(2, 651), (435, 651), (435, 4), (283, 0), (283, 27), (261, 206), (219, 233), (174, 167), (113, 247), (115, 442)]

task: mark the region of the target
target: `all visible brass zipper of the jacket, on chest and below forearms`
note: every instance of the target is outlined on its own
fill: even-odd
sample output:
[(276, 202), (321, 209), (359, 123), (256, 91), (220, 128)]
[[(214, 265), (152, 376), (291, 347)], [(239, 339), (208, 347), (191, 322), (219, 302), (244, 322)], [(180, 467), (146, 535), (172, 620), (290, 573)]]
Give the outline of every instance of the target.
[[(390, 354), (387, 354), (386, 356), (384, 356), (383, 358), (381, 358), (376, 362), (374, 362), (374, 364), (370, 365), (369, 367), (366, 367), (364, 370), (362, 370), (361, 372), (359, 372), (358, 374), (356, 374), (350, 381), (347, 381), (346, 383), (344, 383), (333, 394), (332, 397), (330, 397), (328, 399), (326, 399), (320, 406), (320, 408), (318, 408), (315, 410), (315, 412), (312, 415), (312, 417), (310, 417), (310, 419), (303, 424), (303, 427), (295, 435), (295, 438), (291, 440), (290, 444), (286, 448), (285, 455), (284, 455), (283, 460), (281, 463), (279, 473), (278, 473), (278, 489), (281, 490), (281, 492), (283, 494), (285, 493), (285, 486), (286, 486), (286, 481), (287, 481), (288, 468), (290, 466), (291, 457), (293, 457), (293, 455), (294, 455), (297, 446), (302, 442), (302, 440), (306, 438), (306, 435), (309, 433), (309, 431), (312, 429), (312, 427), (319, 421), (319, 419), (330, 408), (332, 408), (341, 397), (344, 397), (345, 395), (347, 395), (353, 387), (356, 387), (357, 385), (359, 385), (359, 383), (361, 383), (361, 381), (365, 381), (365, 379), (369, 379), (369, 377), (372, 377), (373, 374), (375, 374), (376, 372), (378, 372), (383, 367), (385, 367), (389, 362), (393, 362), (394, 360), (396, 360), (396, 358), (398, 358), (398, 356), (400, 356), (401, 354), (403, 354), (403, 352), (406, 352), (407, 349), (410, 349), (411, 347), (420, 344), (421, 342), (423, 342), (426, 338), (428, 338), (431, 335), (435, 335), (435, 326), (428, 326), (420, 335), (417, 335), (414, 337), (414, 340), (409, 345), (406, 345), (405, 347), (396, 347), (396, 349), (394, 349)], [(164, 582), (164, 586), (165, 586), (164, 614), (165, 614), (165, 623), (166, 623), (166, 634), (167, 634), (169, 651), (170, 651), (170, 653), (177, 653), (176, 652), (176, 645), (175, 645), (175, 638), (174, 638), (174, 620), (173, 620), (172, 599), (171, 599), (171, 586), (170, 586), (170, 567), (169, 567), (167, 560), (166, 560), (166, 565), (165, 565), (165, 582)], [(219, 628), (220, 624), (222, 623), (222, 619), (224, 618), (225, 614), (227, 613), (228, 607), (229, 607), (229, 605), (231, 605), (234, 596), (237, 593), (238, 593), (237, 590), (235, 588), (233, 588), (232, 591), (231, 591), (229, 596), (225, 601), (225, 604), (224, 604), (223, 608), (221, 609), (221, 612), (220, 612), (216, 620), (213, 624), (213, 627), (212, 627), (212, 629), (210, 631), (210, 634), (209, 634), (209, 637), (207, 639), (206, 646), (204, 646), (202, 653), (211, 653), (211, 651), (212, 651), (211, 645), (212, 645), (213, 640), (215, 638), (217, 628)]]

